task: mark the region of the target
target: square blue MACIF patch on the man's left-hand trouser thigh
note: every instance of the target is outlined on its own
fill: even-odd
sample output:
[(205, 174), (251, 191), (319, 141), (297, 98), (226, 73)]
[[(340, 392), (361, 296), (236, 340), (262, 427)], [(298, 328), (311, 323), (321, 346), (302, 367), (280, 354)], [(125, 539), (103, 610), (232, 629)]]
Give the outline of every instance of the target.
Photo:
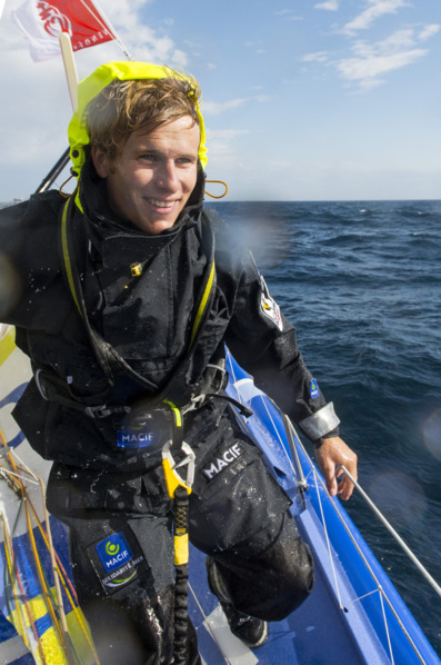
[(110, 534), (88, 548), (93, 567), (108, 594), (124, 587), (150, 570), (129, 528)]

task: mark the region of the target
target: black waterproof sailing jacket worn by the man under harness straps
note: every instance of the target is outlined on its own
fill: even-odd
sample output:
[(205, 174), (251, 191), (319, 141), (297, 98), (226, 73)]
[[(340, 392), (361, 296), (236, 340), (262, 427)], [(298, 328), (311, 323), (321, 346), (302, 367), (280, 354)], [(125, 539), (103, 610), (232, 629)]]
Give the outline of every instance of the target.
[[(197, 188), (202, 193), (203, 183)], [(83, 215), (76, 208), (76, 254), (89, 320), (151, 383), (153, 393), (170, 379), (189, 344), (207, 262), (201, 196), (197, 198), (171, 229), (148, 236), (107, 207), (104, 182), (92, 168), (83, 168), (81, 176)], [(0, 211), (1, 265), (9, 278), (0, 320), (17, 327), (17, 344), (30, 356), (33, 371), (56, 373), (83, 404), (97, 405), (109, 385), (62, 274), (63, 204), (57, 191), (49, 191)], [(209, 217), (216, 237), (216, 294), (180, 387), (181, 404), (198, 390), (207, 366), (224, 357), (227, 344), (255, 384), (299, 423), (325, 401), (320, 391), (311, 396), (312, 376), (298, 350), (295, 330), (271, 299), (251, 255), (232, 241), (216, 212)], [(140, 276), (131, 275), (133, 264), (142, 266)], [(141, 390), (121, 375), (108, 401), (124, 405)], [(209, 419), (212, 410), (203, 408)], [(148, 448), (118, 449), (111, 418), (97, 421), (46, 401), (33, 380), (13, 415), (29, 443), (48, 459), (134, 473), (158, 464)]]

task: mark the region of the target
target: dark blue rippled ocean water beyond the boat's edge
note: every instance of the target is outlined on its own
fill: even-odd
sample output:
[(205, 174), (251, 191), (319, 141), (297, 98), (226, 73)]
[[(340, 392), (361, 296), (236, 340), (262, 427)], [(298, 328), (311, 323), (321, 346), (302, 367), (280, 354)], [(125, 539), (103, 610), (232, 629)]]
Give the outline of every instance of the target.
[[(359, 456), (359, 482), (441, 584), (441, 201), (216, 202)], [(345, 508), (441, 655), (441, 599), (377, 517)]]

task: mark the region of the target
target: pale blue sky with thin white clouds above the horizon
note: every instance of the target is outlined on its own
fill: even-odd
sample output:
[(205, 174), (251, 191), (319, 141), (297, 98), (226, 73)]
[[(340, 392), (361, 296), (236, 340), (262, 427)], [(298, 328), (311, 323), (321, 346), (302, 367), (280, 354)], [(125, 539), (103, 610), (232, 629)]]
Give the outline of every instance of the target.
[[(34, 63), (0, 21), (0, 201), (27, 197), (67, 145), (60, 58)], [(441, 198), (440, 0), (101, 0), (134, 59), (199, 80), (208, 176), (229, 200)], [(80, 78), (124, 59), (76, 53)]]

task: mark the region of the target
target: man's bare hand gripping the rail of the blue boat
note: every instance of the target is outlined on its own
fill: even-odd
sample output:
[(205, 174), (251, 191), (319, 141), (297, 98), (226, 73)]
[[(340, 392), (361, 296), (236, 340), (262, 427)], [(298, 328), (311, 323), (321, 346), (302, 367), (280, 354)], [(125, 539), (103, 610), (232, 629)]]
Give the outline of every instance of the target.
[(353, 492), (353, 485), (344, 474), (343, 479), (338, 484), (339, 465), (343, 464), (351, 476), (357, 480), (357, 455), (339, 436), (323, 438), (323, 444), (315, 450), (315, 457), (324, 476), (328, 492), (331, 496), (341, 495), (348, 500)]

